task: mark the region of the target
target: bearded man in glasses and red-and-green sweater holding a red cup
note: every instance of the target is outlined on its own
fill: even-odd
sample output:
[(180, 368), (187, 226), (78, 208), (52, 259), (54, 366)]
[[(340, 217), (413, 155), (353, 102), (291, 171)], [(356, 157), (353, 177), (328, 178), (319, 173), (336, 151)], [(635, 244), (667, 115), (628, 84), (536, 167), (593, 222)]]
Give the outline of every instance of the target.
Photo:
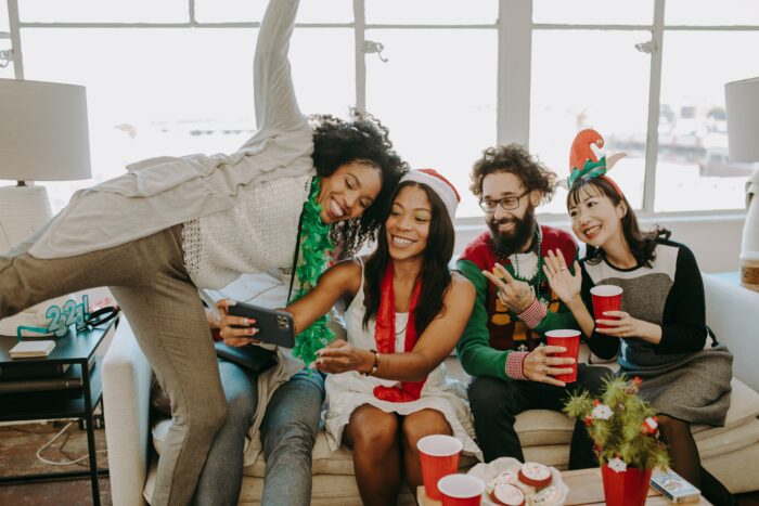
[[(477, 442), (486, 462), (509, 456), (525, 462), (514, 430), (517, 414), (530, 408), (561, 411), (569, 388), (592, 394), (610, 375), (605, 367), (578, 365), (578, 380), (556, 379), (573, 372), (574, 359), (552, 356), (563, 347), (543, 346), (552, 329), (578, 328), (552, 293), (544, 257), (561, 250), (575, 264), (577, 245), (567, 232), (538, 225), (535, 208), (553, 196), (556, 174), (517, 144), (489, 147), (474, 164), (469, 190), (485, 211), (488, 231), (456, 262), (477, 289), (474, 311), (459, 341), (459, 359), (473, 376), (468, 387)], [(569, 468), (595, 467), (592, 443), (578, 420)]]

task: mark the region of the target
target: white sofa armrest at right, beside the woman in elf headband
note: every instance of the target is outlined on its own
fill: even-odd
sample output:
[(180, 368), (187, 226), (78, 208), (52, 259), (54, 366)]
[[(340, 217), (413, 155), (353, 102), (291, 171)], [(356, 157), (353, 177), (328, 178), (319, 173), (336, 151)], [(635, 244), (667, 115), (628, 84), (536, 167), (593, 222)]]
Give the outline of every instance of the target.
[(720, 343), (733, 353), (733, 376), (759, 391), (759, 368), (756, 366), (759, 333), (759, 293), (704, 275), (706, 324)]

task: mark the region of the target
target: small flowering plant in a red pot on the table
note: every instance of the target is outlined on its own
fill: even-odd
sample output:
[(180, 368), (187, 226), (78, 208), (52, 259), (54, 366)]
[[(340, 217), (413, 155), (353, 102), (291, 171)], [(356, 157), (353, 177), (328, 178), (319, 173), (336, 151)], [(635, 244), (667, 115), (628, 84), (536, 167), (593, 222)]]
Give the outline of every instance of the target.
[(651, 473), (669, 465), (654, 410), (638, 395), (640, 378), (606, 381), (601, 399), (588, 392), (570, 395), (564, 412), (584, 420), (601, 464), (609, 505), (643, 505)]

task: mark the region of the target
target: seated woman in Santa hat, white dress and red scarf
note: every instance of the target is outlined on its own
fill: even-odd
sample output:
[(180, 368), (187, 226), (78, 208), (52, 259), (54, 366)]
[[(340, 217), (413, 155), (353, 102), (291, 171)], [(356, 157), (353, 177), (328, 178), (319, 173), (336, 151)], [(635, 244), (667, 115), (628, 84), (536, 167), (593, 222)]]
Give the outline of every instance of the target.
[[(316, 289), (287, 307), (296, 330), (346, 298), (348, 341), (318, 352), (326, 379), (326, 432), (332, 450), (346, 443), (361, 499), (397, 504), (401, 480), (422, 484), (416, 441), (445, 433), (479, 455), (472, 440), (464, 388), (446, 378), (442, 361), (472, 312), (475, 290), (448, 262), (459, 194), (439, 173), (401, 179), (376, 250), (330, 268)], [(229, 326), (222, 335), (241, 338)], [(227, 341), (234, 345), (234, 338)]]

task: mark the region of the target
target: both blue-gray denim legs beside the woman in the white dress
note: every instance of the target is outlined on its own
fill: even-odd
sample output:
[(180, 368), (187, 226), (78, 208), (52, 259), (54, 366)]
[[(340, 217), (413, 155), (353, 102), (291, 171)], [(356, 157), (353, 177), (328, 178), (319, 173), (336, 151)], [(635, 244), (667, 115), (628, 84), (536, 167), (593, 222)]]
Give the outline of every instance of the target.
[[(255, 374), (222, 360), (219, 360), (219, 373), (227, 395), (227, 420), (216, 434), (201, 473), (195, 492), (197, 506), (237, 504), (245, 434), (258, 402)], [(261, 504), (308, 506), (311, 503), (311, 451), (323, 401), (322, 375), (307, 369), (298, 372), (272, 395), (261, 425), (266, 458)]]

